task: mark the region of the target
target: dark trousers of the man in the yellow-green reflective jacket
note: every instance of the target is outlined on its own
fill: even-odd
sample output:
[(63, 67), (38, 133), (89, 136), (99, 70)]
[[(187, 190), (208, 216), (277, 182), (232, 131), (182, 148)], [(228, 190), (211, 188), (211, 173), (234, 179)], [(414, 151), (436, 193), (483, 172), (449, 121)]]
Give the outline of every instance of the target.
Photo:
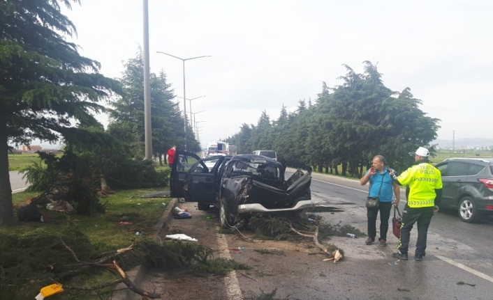
[(411, 208), (404, 207), (402, 211), (401, 238), (399, 239), (399, 251), (406, 254), (409, 251), (409, 237), (414, 223), (418, 225), (418, 240), (416, 241), (415, 255), (425, 256), (426, 239), (429, 223), (432, 221), (434, 207)]

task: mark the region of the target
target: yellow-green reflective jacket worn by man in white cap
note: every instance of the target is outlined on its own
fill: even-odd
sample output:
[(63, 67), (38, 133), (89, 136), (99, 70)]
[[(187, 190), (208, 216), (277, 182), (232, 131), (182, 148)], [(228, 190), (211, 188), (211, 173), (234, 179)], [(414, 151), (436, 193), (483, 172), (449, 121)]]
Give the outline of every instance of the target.
[(429, 163), (411, 166), (397, 177), (402, 185), (409, 185), (409, 207), (435, 206), (435, 189), (441, 189), (441, 173)]

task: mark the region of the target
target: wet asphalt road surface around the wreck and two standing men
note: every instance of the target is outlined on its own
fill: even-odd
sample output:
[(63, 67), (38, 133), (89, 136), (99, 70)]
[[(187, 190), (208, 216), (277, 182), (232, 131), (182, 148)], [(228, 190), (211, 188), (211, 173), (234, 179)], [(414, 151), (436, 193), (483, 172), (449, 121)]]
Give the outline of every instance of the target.
[[(358, 180), (321, 174), (312, 174), (312, 177), (312, 198), (326, 207), (314, 214), (321, 216), (325, 223), (347, 224), (366, 232), (365, 196), (368, 187), (362, 187)], [(404, 207), (402, 192), (401, 206)], [(182, 205), (190, 211), (196, 206), (195, 203)], [(275, 299), (283, 300), (493, 299), (492, 219), (469, 224), (452, 212), (436, 214), (428, 232), (427, 255), (422, 262), (413, 260), (415, 228), (411, 231), (408, 261), (392, 258), (392, 252), (397, 251), (398, 239), (391, 231), (386, 247), (367, 246), (365, 238), (331, 237), (329, 242), (344, 250), (344, 259), (333, 264), (323, 262), (323, 255), (308, 255), (310, 248), (304, 243), (257, 240), (247, 244), (247, 240), (237, 235), (214, 234), (219, 223), (214, 221), (219, 219), (216, 210), (193, 210), (193, 214), (190, 221), (198, 222), (195, 226), (187, 225), (186, 220), (173, 220), (172, 228), (198, 237), (206, 246), (220, 249), (221, 255), (226, 255), (224, 258), (233, 258), (251, 265), (253, 269), (232, 272), (223, 282), (209, 285), (206, 278), (200, 287), (186, 281), (177, 283), (173, 281), (173, 275), (168, 274), (168, 281), (148, 278), (147, 283), (152, 285), (147, 285), (147, 290), (169, 290), (169, 282), (172, 281), (172, 286), (179, 285), (184, 290), (197, 289), (197, 294), (193, 297), (187, 294), (186, 299), (249, 299), (247, 296), (250, 294), (273, 290), (277, 291)], [(214, 218), (204, 222), (205, 216)], [(225, 250), (237, 246), (245, 246), (246, 250)], [(249, 247), (284, 247), (286, 255), (263, 255)], [(216, 289), (217, 297), (200, 294), (200, 288)]]

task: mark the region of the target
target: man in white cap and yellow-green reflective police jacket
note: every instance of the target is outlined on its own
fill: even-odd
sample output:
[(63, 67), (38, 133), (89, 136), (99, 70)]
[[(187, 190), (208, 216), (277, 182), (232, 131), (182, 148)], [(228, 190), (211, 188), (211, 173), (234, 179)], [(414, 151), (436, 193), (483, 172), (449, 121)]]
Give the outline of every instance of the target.
[(414, 223), (418, 226), (418, 240), (414, 259), (421, 261), (426, 255), (426, 239), (429, 223), (434, 212), (439, 211), (441, 202), (441, 174), (439, 169), (429, 163), (429, 151), (426, 148), (418, 148), (409, 153), (414, 156), (416, 164), (399, 175), (391, 174), (395, 183), (408, 185), (406, 189), (407, 203), (402, 212), (401, 237), (399, 239), (399, 252), (392, 256), (400, 260), (408, 260), (409, 236)]

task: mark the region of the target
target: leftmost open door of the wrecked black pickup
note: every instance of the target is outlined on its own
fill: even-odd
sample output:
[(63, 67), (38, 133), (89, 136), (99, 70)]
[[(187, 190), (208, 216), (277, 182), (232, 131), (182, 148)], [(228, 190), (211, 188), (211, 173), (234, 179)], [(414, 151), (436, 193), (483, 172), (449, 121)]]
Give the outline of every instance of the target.
[(198, 155), (191, 152), (177, 150), (175, 161), (171, 166), (170, 174), (170, 196), (172, 198), (185, 198), (183, 189), (186, 177), (191, 169), (191, 166), (200, 160)]

